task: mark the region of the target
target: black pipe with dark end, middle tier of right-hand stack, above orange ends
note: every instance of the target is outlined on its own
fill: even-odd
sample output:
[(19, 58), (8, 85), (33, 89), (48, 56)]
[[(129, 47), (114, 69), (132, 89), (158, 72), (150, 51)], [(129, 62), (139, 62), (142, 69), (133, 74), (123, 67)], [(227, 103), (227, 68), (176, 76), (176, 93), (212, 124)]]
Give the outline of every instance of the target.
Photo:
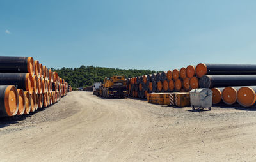
[(256, 85), (256, 75), (204, 75), (200, 88)]

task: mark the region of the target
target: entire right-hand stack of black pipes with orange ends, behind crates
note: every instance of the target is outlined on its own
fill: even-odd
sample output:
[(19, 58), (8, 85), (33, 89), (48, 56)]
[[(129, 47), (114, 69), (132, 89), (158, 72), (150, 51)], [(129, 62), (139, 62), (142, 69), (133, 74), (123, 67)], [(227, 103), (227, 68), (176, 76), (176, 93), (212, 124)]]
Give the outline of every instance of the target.
[(147, 98), (151, 92), (189, 92), (196, 88), (210, 88), (212, 102), (250, 107), (256, 103), (256, 65), (198, 64), (186, 68), (140, 77), (128, 78), (130, 96)]

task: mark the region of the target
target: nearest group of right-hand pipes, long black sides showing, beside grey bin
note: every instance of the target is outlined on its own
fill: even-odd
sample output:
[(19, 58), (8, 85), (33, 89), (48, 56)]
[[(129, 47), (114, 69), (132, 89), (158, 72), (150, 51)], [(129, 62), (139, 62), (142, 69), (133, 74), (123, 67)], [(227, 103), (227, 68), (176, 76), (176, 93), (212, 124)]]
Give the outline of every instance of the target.
[(251, 107), (256, 102), (256, 65), (198, 64), (196, 75), (202, 88), (211, 88), (212, 103), (239, 103)]

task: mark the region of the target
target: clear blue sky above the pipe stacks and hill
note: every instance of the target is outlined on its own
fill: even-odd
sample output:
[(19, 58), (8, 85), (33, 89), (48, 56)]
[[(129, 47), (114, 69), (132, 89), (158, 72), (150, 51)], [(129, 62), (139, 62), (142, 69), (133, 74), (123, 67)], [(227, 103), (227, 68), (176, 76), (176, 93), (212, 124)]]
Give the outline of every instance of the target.
[(0, 1), (0, 55), (47, 67), (255, 64), (256, 1)]

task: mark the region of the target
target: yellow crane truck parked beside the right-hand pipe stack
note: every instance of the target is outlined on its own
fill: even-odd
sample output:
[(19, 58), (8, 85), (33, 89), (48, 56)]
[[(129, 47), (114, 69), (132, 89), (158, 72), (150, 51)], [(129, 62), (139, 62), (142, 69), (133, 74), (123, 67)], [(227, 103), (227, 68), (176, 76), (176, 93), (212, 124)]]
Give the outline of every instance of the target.
[(103, 98), (125, 98), (128, 96), (124, 76), (105, 77), (100, 87), (100, 96)]

